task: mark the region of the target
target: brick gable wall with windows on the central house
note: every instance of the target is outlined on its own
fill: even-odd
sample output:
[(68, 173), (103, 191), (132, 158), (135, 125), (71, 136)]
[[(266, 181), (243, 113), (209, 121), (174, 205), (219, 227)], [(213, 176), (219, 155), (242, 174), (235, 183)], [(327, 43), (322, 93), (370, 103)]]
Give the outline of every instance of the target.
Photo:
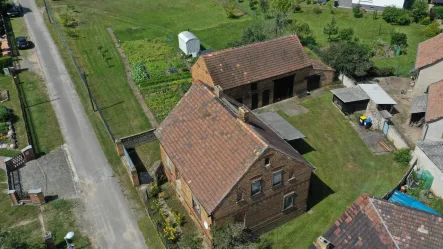
[[(264, 166), (265, 158), (271, 157), (271, 166)], [(272, 173), (283, 170), (283, 182), (272, 187)], [(289, 180), (293, 173), (293, 180)], [(214, 223), (219, 225), (233, 222), (234, 217), (244, 217), (245, 225), (252, 230), (261, 230), (272, 226), (274, 221), (285, 217), (293, 218), (306, 210), (311, 169), (302, 163), (288, 158), (276, 151), (268, 151), (261, 157), (224, 199), (214, 213)], [(262, 179), (262, 193), (251, 196), (251, 182)], [(283, 199), (288, 193), (294, 192), (294, 207), (283, 211)], [(237, 203), (238, 194), (242, 193), (243, 201)]]

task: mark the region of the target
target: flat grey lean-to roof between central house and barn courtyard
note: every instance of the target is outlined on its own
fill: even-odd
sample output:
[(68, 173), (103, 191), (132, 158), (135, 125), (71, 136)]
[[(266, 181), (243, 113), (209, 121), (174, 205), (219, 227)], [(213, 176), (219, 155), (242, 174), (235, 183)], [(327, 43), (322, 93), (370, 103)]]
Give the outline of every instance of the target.
[(291, 141), (306, 137), (276, 112), (265, 112), (257, 114), (257, 116), (277, 133), (281, 139)]

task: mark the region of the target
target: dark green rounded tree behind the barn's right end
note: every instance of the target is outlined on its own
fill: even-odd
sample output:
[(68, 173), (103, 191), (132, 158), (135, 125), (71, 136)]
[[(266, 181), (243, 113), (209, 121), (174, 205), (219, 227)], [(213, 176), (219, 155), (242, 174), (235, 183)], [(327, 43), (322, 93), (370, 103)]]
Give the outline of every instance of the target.
[(332, 43), (322, 57), (337, 72), (356, 77), (365, 76), (373, 66), (367, 48), (356, 42)]

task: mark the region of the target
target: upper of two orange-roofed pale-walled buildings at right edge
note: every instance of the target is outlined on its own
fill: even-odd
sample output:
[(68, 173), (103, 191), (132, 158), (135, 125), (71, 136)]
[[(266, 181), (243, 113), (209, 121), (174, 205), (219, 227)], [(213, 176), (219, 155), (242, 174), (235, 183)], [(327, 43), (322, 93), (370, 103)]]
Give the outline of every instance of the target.
[(443, 79), (443, 33), (418, 45), (414, 96), (427, 93), (429, 85)]

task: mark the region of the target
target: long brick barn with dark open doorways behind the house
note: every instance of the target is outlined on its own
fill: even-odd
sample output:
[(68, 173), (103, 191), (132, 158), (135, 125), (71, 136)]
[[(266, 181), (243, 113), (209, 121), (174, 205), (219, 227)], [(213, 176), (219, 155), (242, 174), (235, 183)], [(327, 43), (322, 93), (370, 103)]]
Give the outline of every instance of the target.
[(250, 109), (331, 84), (334, 69), (311, 59), (296, 35), (200, 56), (193, 82), (220, 86)]

